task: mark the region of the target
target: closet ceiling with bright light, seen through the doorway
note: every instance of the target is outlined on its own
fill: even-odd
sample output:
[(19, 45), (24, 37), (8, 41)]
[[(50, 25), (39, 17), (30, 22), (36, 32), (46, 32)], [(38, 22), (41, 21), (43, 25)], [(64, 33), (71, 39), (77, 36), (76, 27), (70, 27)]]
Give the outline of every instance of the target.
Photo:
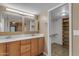
[(52, 20), (58, 20), (62, 17), (69, 17), (69, 4), (62, 5), (51, 11)]

